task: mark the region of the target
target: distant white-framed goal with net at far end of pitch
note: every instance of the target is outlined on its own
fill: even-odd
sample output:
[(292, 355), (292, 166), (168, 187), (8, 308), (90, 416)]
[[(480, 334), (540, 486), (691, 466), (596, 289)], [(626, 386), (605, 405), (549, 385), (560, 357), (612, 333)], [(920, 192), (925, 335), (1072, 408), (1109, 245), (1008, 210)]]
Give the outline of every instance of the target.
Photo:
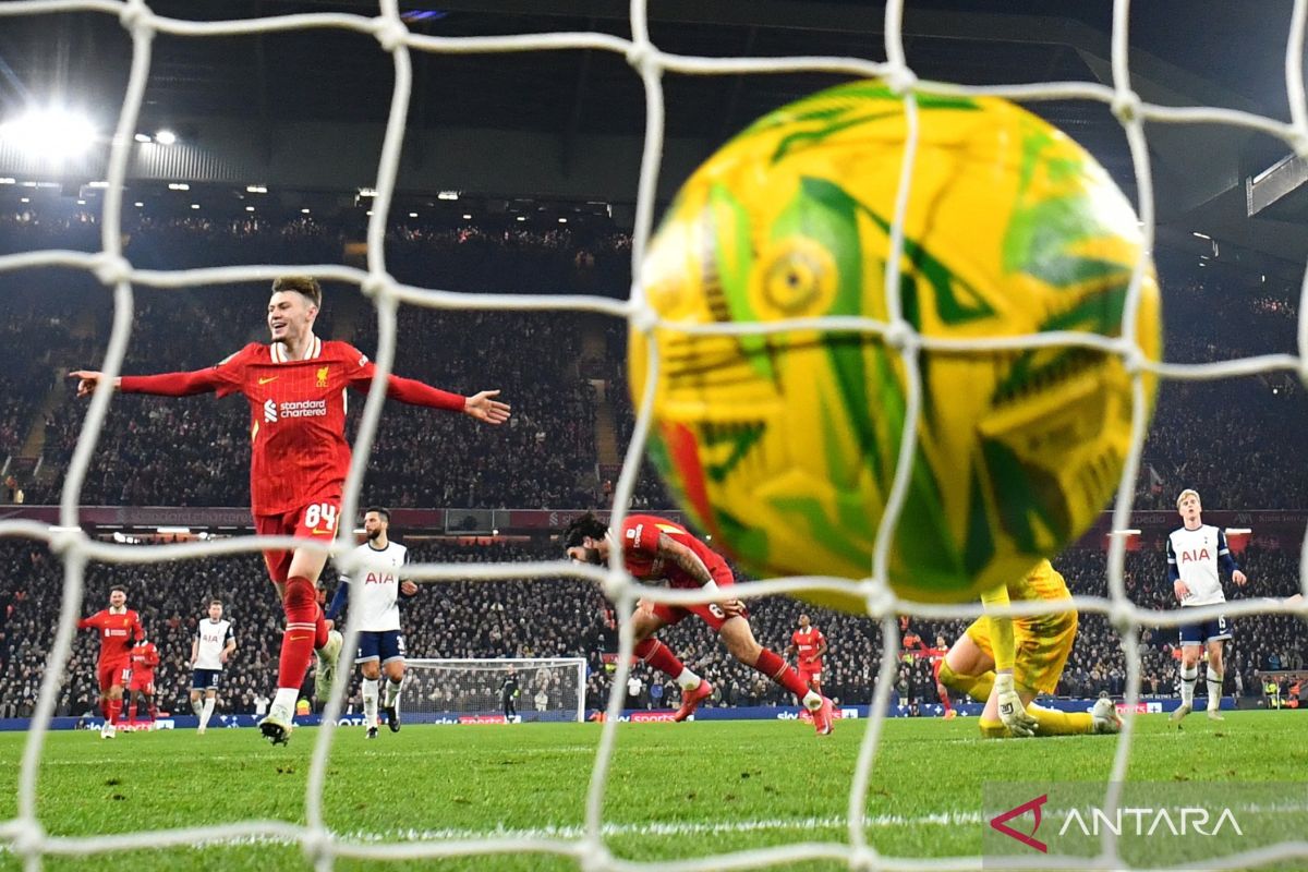
[(403, 702), (413, 723), (586, 719), (581, 658), (405, 660)]

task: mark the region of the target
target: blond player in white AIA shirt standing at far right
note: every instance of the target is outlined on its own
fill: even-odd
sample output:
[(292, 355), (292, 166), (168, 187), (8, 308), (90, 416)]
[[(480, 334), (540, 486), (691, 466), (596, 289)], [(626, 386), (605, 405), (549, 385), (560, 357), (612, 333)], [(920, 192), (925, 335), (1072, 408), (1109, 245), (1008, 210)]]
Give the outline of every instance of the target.
[[(1249, 580), (1231, 557), (1226, 533), (1199, 518), (1203, 505), (1197, 490), (1182, 490), (1176, 498), (1176, 510), (1182, 526), (1167, 537), (1167, 577), (1176, 599), (1181, 601), (1181, 608), (1226, 603), (1218, 575), (1219, 563), (1231, 573), (1236, 584)], [(1194, 711), (1194, 684), (1199, 680), (1199, 654), (1205, 647), (1209, 650), (1209, 718), (1224, 720), (1218, 714), (1222, 705), (1222, 643), (1230, 638), (1231, 625), (1224, 614), (1181, 625), (1181, 705), (1172, 713), (1172, 720)]]

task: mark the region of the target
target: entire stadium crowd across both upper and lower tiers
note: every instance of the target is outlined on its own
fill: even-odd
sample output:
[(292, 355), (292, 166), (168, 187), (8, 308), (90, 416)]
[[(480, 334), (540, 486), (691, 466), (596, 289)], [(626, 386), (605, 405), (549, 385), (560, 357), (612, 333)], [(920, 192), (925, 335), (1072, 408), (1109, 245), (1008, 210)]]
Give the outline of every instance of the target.
[[(90, 220), (43, 221), (0, 217), (9, 250), (71, 247), (94, 250), (99, 229)], [(332, 263), (344, 256), (347, 233), (309, 218), (290, 222), (198, 218), (128, 222), (128, 256), (150, 268), (226, 263)], [(391, 268), (424, 286), (484, 292), (589, 292), (624, 295), (629, 282), (629, 238), (611, 231), (464, 226), (432, 230), (395, 226), (388, 235)], [(29, 503), (56, 502), (86, 411), (71, 391), (54, 390), (58, 374), (98, 366), (109, 335), (110, 295), (76, 271), (5, 273), (0, 282), (5, 318), (0, 343), (0, 458), (20, 451), (33, 421), (44, 425), (46, 475), (16, 481)], [(1169, 310), (1168, 360), (1198, 362), (1294, 348), (1295, 305), (1288, 290), (1224, 294), (1218, 282), (1177, 290), (1188, 303)], [(137, 290), (133, 340), (124, 371), (169, 371), (211, 365), (247, 341), (266, 340), (266, 286), (188, 292)], [(1176, 312), (1175, 316), (1172, 312)], [(328, 286), (318, 332), (347, 339), (375, 353), (373, 309), (357, 293)], [(39, 335), (42, 341), (24, 341)], [(428, 409), (390, 403), (369, 460), (370, 502), (436, 507), (578, 507), (607, 501), (616, 471), (599, 464), (596, 411), (610, 405), (625, 447), (634, 416), (625, 391), (625, 327), (572, 312), (451, 312), (404, 307), (395, 370), (460, 392), (502, 388), (514, 405), (510, 425), (497, 430)], [(600, 391), (603, 401), (600, 401)], [(362, 396), (351, 404), (353, 426)], [(1165, 383), (1146, 444), (1138, 506), (1171, 510), (1181, 486), (1194, 486), (1211, 509), (1301, 507), (1308, 469), (1283, 450), (1300, 441), (1304, 391), (1294, 379), (1250, 377), (1235, 382)], [(82, 489), (84, 503), (243, 506), (249, 490), (247, 417), (239, 397), (158, 400), (116, 397)], [(8, 489), (0, 499), (13, 499)], [(646, 464), (634, 505), (670, 505)], [(402, 531), (400, 531), (402, 532)], [(419, 560), (525, 560), (553, 550), (526, 545), (454, 546), (424, 544)], [(1059, 558), (1078, 594), (1107, 592), (1101, 552), (1074, 550)], [(1250, 550), (1252, 579), (1243, 596), (1286, 595), (1298, 577), (1288, 550)], [(1146, 608), (1171, 608), (1160, 552), (1131, 554), (1127, 590)], [(41, 549), (13, 541), (0, 550), (4, 634), (0, 658), (0, 715), (31, 710), (41, 668), (59, 612), (60, 565)], [(331, 574), (328, 573), (328, 577)], [(258, 560), (230, 558), (139, 567), (92, 567), (89, 613), (110, 583), (126, 583), (131, 605), (164, 651), (160, 686), (165, 706), (178, 707), (187, 689), (183, 660), (207, 597), (229, 601), (239, 654), (225, 679), (222, 710), (250, 711), (267, 692), (281, 638), (281, 612)], [(542, 596), (542, 584), (551, 594)], [(783, 650), (803, 607), (790, 600), (751, 604), (760, 641)], [(832, 645), (825, 689), (838, 699), (865, 699), (878, 668), (879, 630), (866, 618), (812, 609)], [(1228, 692), (1253, 693), (1256, 669), (1301, 665), (1308, 638), (1292, 618), (1266, 616), (1236, 622)], [(961, 625), (914, 621), (926, 645), (952, 641)], [(612, 616), (598, 591), (572, 582), (514, 582), (493, 586), (433, 586), (408, 607), (409, 650), (421, 656), (585, 656), (586, 698), (598, 706), (608, 690), (602, 655), (615, 648)], [(781, 702), (782, 693), (734, 663), (697, 621), (664, 633), (666, 641), (717, 686), (718, 705)], [(1175, 692), (1175, 631), (1146, 630), (1144, 689)], [(82, 634), (59, 703), (81, 714), (93, 699), (94, 639)], [(657, 676), (640, 673), (649, 705)], [(1101, 616), (1082, 616), (1080, 633), (1061, 690), (1091, 696), (1120, 693), (1125, 664), (1116, 631)], [(659, 682), (663, 689), (663, 684)], [(929, 663), (905, 656), (896, 692), (904, 701), (935, 698)], [(662, 698), (668, 698), (667, 690)], [(789, 702), (789, 701), (786, 701)]]

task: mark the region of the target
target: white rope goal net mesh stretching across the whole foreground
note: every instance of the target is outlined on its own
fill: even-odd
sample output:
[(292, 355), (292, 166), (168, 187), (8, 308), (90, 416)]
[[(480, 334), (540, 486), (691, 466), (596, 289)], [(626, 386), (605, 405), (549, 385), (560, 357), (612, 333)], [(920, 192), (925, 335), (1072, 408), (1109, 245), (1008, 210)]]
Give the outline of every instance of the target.
[[(141, 109), (150, 67), (150, 44), (156, 34), (173, 34), (178, 37), (222, 37), (237, 34), (263, 34), (307, 27), (332, 27), (357, 33), (370, 34), (378, 41), (381, 50), (388, 52), (395, 64), (395, 86), (391, 97), (390, 115), (386, 126), (381, 157), (377, 171), (377, 196), (374, 200), (371, 220), (368, 226), (368, 261), (365, 269), (330, 264), (294, 264), (297, 273), (314, 275), (320, 280), (334, 280), (344, 284), (357, 285), (365, 295), (371, 298), (378, 315), (378, 353), (377, 369), (381, 374), (387, 374), (395, 354), (396, 309), (399, 303), (415, 306), (443, 307), (443, 309), (551, 309), (591, 311), (613, 315), (627, 319), (630, 329), (650, 332), (659, 322), (654, 312), (645, 305), (640, 282), (632, 289), (632, 294), (625, 302), (613, 302), (603, 298), (578, 295), (511, 295), (487, 294), (467, 295), (459, 293), (441, 292), (424, 288), (413, 288), (396, 282), (387, 272), (383, 247), (383, 235), (387, 226), (387, 217), (395, 179), (399, 166), (400, 148), (405, 129), (405, 116), (412, 90), (411, 52), (505, 52), (505, 51), (549, 51), (549, 50), (595, 50), (610, 51), (625, 56), (627, 61), (640, 75), (646, 95), (646, 133), (642, 167), (638, 187), (638, 200), (636, 210), (636, 227), (633, 239), (633, 263), (642, 260), (653, 224), (654, 191), (659, 173), (659, 158), (663, 148), (663, 92), (662, 75), (664, 72), (678, 72), (687, 75), (740, 75), (740, 73), (777, 73), (791, 71), (825, 71), (850, 76), (879, 76), (897, 93), (905, 95), (905, 112), (908, 119), (908, 143), (904, 152), (903, 171), (900, 175), (899, 196), (896, 201), (896, 221), (891, 237), (891, 256), (887, 258), (886, 282), (887, 289), (897, 289), (900, 261), (903, 254), (903, 216), (905, 213), (910, 195), (910, 179), (917, 146), (917, 109), (914, 93), (956, 94), (956, 95), (998, 95), (1018, 101), (1052, 101), (1052, 99), (1088, 99), (1107, 103), (1112, 107), (1114, 116), (1120, 120), (1127, 144), (1138, 186), (1138, 214), (1143, 226), (1143, 244), (1141, 246), (1142, 260), (1137, 263), (1127, 305), (1125, 307), (1122, 337), (1135, 336), (1134, 322), (1141, 299), (1141, 276), (1144, 268), (1143, 258), (1152, 250), (1154, 243), (1154, 188), (1151, 180), (1150, 156), (1146, 146), (1144, 123), (1172, 123), (1172, 124), (1233, 124), (1249, 129), (1261, 131), (1287, 143), (1300, 157), (1308, 157), (1308, 99), (1305, 99), (1303, 82), (1303, 48), (1304, 29), (1308, 20), (1308, 0), (1296, 0), (1294, 4), (1292, 24), (1286, 41), (1286, 90), (1290, 102), (1291, 122), (1284, 123), (1273, 118), (1266, 118), (1250, 112), (1211, 107), (1211, 106), (1162, 106), (1148, 103), (1131, 88), (1127, 52), (1127, 20), (1130, 4), (1127, 0), (1117, 0), (1113, 8), (1112, 33), (1112, 85), (1099, 85), (1083, 81), (1040, 82), (1035, 85), (999, 85), (999, 86), (960, 86), (944, 82), (920, 81), (908, 64), (903, 42), (903, 1), (891, 0), (886, 5), (884, 31), (886, 31), (886, 63), (872, 63), (857, 58), (698, 58), (666, 54), (651, 41), (647, 29), (646, 4), (642, 0), (632, 0), (630, 4), (630, 39), (623, 39), (600, 33), (553, 33), (531, 34), (513, 37), (489, 38), (437, 38), (420, 37), (409, 33), (400, 20), (396, 0), (382, 0), (379, 14), (364, 17), (344, 13), (310, 13), (288, 14), (266, 18), (250, 18), (239, 21), (184, 21), (156, 16), (144, 0), (14, 0), (0, 4), (0, 16), (30, 16), (59, 12), (93, 12), (116, 16), (122, 26), (131, 35), (132, 64), (128, 78), (126, 98), (118, 119), (114, 140), (110, 150), (107, 188), (105, 190), (103, 214), (101, 220), (102, 248), (98, 254), (82, 254), (73, 251), (33, 251), (18, 255), (0, 258), (0, 271), (10, 271), (31, 267), (64, 265), (92, 272), (101, 282), (114, 290), (114, 319), (112, 332), (105, 356), (103, 370), (106, 375), (118, 375), (123, 354), (127, 348), (128, 335), (132, 323), (133, 285), (153, 288), (188, 288), (196, 285), (216, 285), (226, 282), (271, 281), (273, 277), (288, 272), (292, 265), (255, 265), (230, 267), (211, 269), (179, 269), (179, 271), (145, 271), (135, 269), (123, 256), (120, 235), (120, 213), (123, 183), (127, 174), (129, 149), (132, 137), (137, 129), (136, 122)], [(906, 426), (903, 444), (910, 446), (916, 441), (916, 421), (921, 405), (921, 382), (917, 369), (917, 358), (922, 349), (944, 348), (946, 343), (929, 340), (917, 335), (908, 322), (901, 318), (900, 299), (895, 293), (887, 294), (889, 311), (888, 322), (840, 319), (842, 331), (858, 329), (875, 333), (904, 356), (908, 379), (908, 408)], [(1122, 529), (1131, 512), (1131, 499), (1139, 465), (1139, 448), (1144, 439), (1144, 387), (1142, 377), (1152, 370), (1163, 378), (1173, 379), (1215, 379), (1228, 378), (1241, 374), (1266, 373), (1273, 370), (1288, 370), (1298, 373), (1300, 378), (1308, 379), (1308, 277), (1301, 292), (1299, 306), (1299, 354), (1270, 354), (1250, 357), (1244, 360), (1224, 361), (1206, 365), (1169, 365), (1152, 363), (1144, 358), (1141, 349), (1130, 340), (1105, 339), (1086, 336), (1082, 333), (1045, 333), (1041, 336), (1011, 337), (995, 341), (950, 343), (952, 349), (995, 349), (995, 348), (1033, 348), (1050, 344), (1076, 344), (1083, 346), (1100, 348), (1108, 353), (1118, 354), (1134, 374), (1134, 422), (1133, 446), (1126, 468), (1122, 473), (1122, 485), (1118, 488), (1118, 497), (1113, 512), (1113, 527)], [(766, 326), (705, 326), (688, 328), (688, 332), (710, 333), (751, 333), (751, 332), (782, 332), (799, 327), (810, 328), (833, 326), (835, 322), (773, 322)], [(657, 345), (649, 343), (651, 374), (658, 370)], [(105, 383), (102, 382), (102, 386)], [(642, 397), (640, 408), (642, 412), (637, 418), (633, 439), (628, 447), (625, 463), (613, 497), (613, 518), (611, 523), (620, 526), (627, 514), (627, 506), (636, 484), (640, 469), (640, 458), (645, 447), (645, 437), (649, 429), (650, 399), (653, 395), (654, 378), (650, 378), (646, 387), (646, 396)], [(364, 469), (368, 463), (369, 450), (377, 431), (377, 422), (381, 414), (382, 399), (385, 396), (385, 380), (378, 378), (373, 382), (368, 395), (358, 437), (354, 444), (354, 463), (351, 467), (347, 481), (343, 512), (345, 518), (356, 516), (358, 509), (358, 489), (362, 481)], [(599, 750), (591, 771), (590, 790), (586, 803), (586, 824), (579, 838), (485, 838), (449, 842), (412, 842), (403, 845), (375, 845), (351, 842), (334, 835), (323, 821), (323, 782), (327, 773), (327, 760), (335, 733), (335, 723), (341, 707), (343, 690), (337, 689), (336, 698), (328, 705), (324, 723), (318, 732), (317, 744), (313, 752), (313, 765), (306, 792), (306, 825), (297, 826), (277, 821), (243, 821), (218, 826), (179, 828), (171, 830), (153, 830), (127, 833), (120, 835), (95, 835), (88, 838), (54, 838), (44, 833), (37, 816), (37, 777), (39, 771), (42, 749), (44, 746), (46, 729), (52, 714), (56, 690), (63, 677), (64, 667), (68, 663), (76, 618), (81, 607), (84, 571), (89, 561), (106, 561), (115, 563), (137, 563), (161, 560), (194, 560), (225, 553), (254, 553), (267, 548), (293, 548), (315, 546), (306, 545), (301, 540), (289, 537), (268, 539), (235, 539), (211, 543), (196, 543), (183, 545), (158, 546), (129, 546), (110, 545), (97, 543), (82, 533), (78, 528), (78, 494), (86, 476), (88, 464), (93, 455), (97, 437), (105, 421), (110, 390), (99, 390), (92, 399), (86, 414), (81, 438), (68, 467), (67, 478), (60, 501), (60, 524), (44, 526), (34, 522), (0, 522), (0, 536), (20, 536), (48, 543), (50, 549), (63, 560), (64, 588), (63, 611), (60, 614), (58, 631), (51, 647), (50, 658), (41, 686), (33, 726), (27, 735), (27, 743), (22, 758), (22, 769), (18, 783), (18, 814), (0, 828), (0, 835), (7, 838), (12, 850), (24, 858), (29, 869), (41, 867), (46, 855), (88, 855), (105, 854), (124, 848), (141, 847), (170, 847), (191, 845), (203, 839), (224, 838), (276, 838), (298, 841), (306, 855), (313, 858), (319, 868), (331, 868), (337, 856), (369, 858), (369, 859), (412, 859), (412, 858), (441, 858), (476, 854), (497, 852), (545, 852), (569, 856), (578, 860), (582, 868), (676, 868), (676, 869), (723, 869), (743, 868), (753, 865), (772, 865), (791, 862), (812, 862), (815, 859), (831, 859), (849, 864), (850, 868), (884, 868), (884, 869), (964, 869), (980, 868), (980, 856), (956, 858), (891, 858), (879, 855), (867, 842), (866, 816), (867, 788), (876, 757), (876, 749), (882, 736), (883, 716), (889, 698), (895, 654), (899, 648), (899, 626), (895, 620), (897, 613), (922, 614), (931, 617), (964, 618), (980, 614), (980, 607), (929, 607), (897, 599), (886, 583), (887, 562), (892, 531), (895, 529), (906, 492), (908, 473), (913, 452), (904, 450), (900, 452), (900, 463), (896, 472), (895, 485), (891, 492), (887, 511), (876, 535), (875, 558), (871, 574), (857, 586), (857, 590), (866, 599), (867, 613), (880, 621), (883, 630), (882, 668), (878, 676), (876, 692), (872, 699), (872, 718), (869, 723), (863, 744), (859, 750), (857, 770), (849, 795), (848, 811), (848, 842), (807, 842), (791, 843), (781, 847), (749, 850), (730, 855), (704, 856), (695, 860), (679, 863), (642, 864), (620, 860), (612, 856), (603, 841), (603, 807), (604, 791), (610, 761), (613, 754), (616, 740), (617, 718), (615, 716), (623, 702), (621, 693), (613, 693), (608, 701), (608, 718), (603, 726)], [(343, 569), (348, 561), (344, 553), (353, 543), (337, 541), (336, 544), (317, 545), (324, 550), (340, 552)], [(1158, 626), (1176, 626), (1182, 622), (1180, 612), (1163, 613), (1147, 612), (1131, 604), (1126, 596), (1124, 583), (1124, 537), (1114, 537), (1109, 550), (1109, 597), (1076, 597), (1075, 608), (1082, 612), (1096, 612), (1107, 614), (1112, 624), (1121, 633), (1122, 647), (1127, 664), (1126, 703), (1127, 711), (1134, 713), (1134, 703), (1138, 699), (1141, 688), (1138, 631), (1143, 622)], [(617, 605), (617, 613), (623, 618), (629, 616), (634, 608), (636, 599), (664, 601), (664, 603), (693, 603), (702, 599), (693, 591), (670, 591), (661, 588), (646, 588), (638, 586), (620, 567), (620, 556), (615, 554), (615, 562), (607, 571), (586, 566), (562, 567), (555, 562), (535, 563), (505, 563), (505, 565), (416, 565), (408, 571), (415, 579), (447, 580), (447, 579), (490, 579), (490, 578), (534, 578), (544, 575), (573, 575), (589, 579), (603, 586), (604, 592)], [(1300, 557), (1300, 579), (1308, 579), (1308, 539), (1304, 540), (1304, 550)], [(849, 591), (852, 583), (835, 578), (793, 578), (760, 582), (738, 587), (735, 591), (742, 597), (757, 597), (774, 594), (795, 594), (800, 591), (842, 590)], [(1305, 588), (1308, 590), (1308, 588)], [(1023, 604), (1011, 608), (1012, 614), (1035, 614), (1057, 611), (1057, 604)], [(1278, 607), (1260, 601), (1231, 603), (1224, 607), (1203, 607), (1190, 609), (1184, 616), (1186, 621), (1201, 620), (1215, 616), (1219, 611), (1230, 617), (1240, 617), (1257, 612), (1266, 612)], [(1287, 608), (1287, 607), (1279, 607)], [(1308, 611), (1301, 609), (1308, 614)], [(615, 688), (625, 684), (630, 668), (632, 634), (630, 625), (624, 622), (620, 634), (620, 654), (617, 658), (617, 672), (613, 680)], [(345, 639), (345, 650), (353, 650), (354, 633), (351, 631)], [(1131, 737), (1134, 732), (1134, 716), (1127, 714), (1125, 728), (1117, 744), (1113, 761), (1112, 775), (1105, 799), (1108, 811), (1117, 808), (1121, 794), (1121, 784), (1126, 777), (1127, 760), (1131, 750)], [(1308, 845), (1303, 842), (1284, 842), (1257, 851), (1236, 854), (1214, 862), (1207, 868), (1235, 868), (1265, 864), (1291, 858), (1308, 856)], [(1023, 864), (1010, 860), (1014, 867), (1039, 865), (1049, 868), (1054, 865), (1084, 867), (1083, 858), (1056, 858), (1042, 855), (1035, 863)], [(1112, 831), (1108, 830), (1103, 838), (1103, 854), (1095, 860), (1100, 868), (1117, 868), (1126, 863), (1117, 854), (1117, 842)]]

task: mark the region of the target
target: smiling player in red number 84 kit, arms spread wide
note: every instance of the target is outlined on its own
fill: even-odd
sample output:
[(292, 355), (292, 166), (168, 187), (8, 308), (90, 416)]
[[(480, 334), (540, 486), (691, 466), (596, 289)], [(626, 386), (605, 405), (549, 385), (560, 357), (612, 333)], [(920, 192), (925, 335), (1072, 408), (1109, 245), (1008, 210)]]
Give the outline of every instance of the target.
[[(284, 276), (272, 282), (268, 301), (268, 345), (251, 343), (217, 366), (194, 373), (124, 375), (115, 387), (124, 394), (188, 396), (243, 394), (250, 403), (250, 502), (260, 535), (331, 540), (340, 514), (341, 488), (349, 469), (345, 442), (345, 388), (368, 391), (374, 367), (347, 343), (314, 336), (322, 306), (315, 278)], [(76, 371), (77, 395), (95, 390), (102, 374)], [(498, 391), (459, 396), (421, 382), (388, 377), (387, 396), (449, 412), (463, 412), (487, 424), (502, 424), (509, 407)], [(260, 722), (273, 744), (290, 736), (300, 685), (318, 651), (318, 696), (327, 698), (341, 635), (318, 605), (314, 586), (327, 554), (307, 548), (264, 552), (264, 562), (281, 596), (286, 629), (281, 638), (277, 694)]]

